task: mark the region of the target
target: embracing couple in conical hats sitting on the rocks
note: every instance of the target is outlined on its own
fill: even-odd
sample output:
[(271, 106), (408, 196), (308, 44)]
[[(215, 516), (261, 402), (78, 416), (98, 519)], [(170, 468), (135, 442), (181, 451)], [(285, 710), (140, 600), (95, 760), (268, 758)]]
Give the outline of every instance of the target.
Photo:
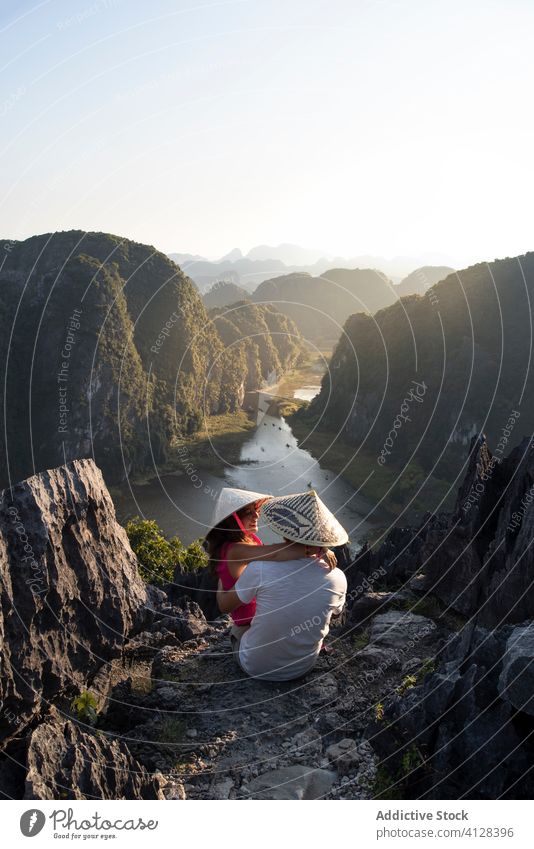
[[(283, 542), (263, 545), (260, 510)], [(219, 609), (234, 622), (234, 657), (248, 675), (286, 681), (312, 669), (347, 591), (329, 547), (347, 540), (314, 490), (278, 498), (222, 490), (206, 543)]]

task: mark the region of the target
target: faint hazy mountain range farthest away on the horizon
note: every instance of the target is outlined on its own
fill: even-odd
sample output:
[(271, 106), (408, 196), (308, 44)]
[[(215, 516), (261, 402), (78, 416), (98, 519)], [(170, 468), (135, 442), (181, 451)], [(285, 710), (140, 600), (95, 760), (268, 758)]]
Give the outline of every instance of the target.
[[(198, 254), (170, 253), (168, 256), (205, 293), (213, 283), (228, 280), (253, 292), (264, 280), (292, 272), (307, 272), (319, 277), (329, 268), (373, 268), (386, 274), (393, 283), (421, 266), (443, 266), (446, 257), (440, 254), (398, 256), (392, 259), (372, 255), (341, 257), (312, 248), (282, 244), (257, 245), (244, 255), (234, 248), (217, 260)], [(435, 281), (433, 281), (435, 282)]]

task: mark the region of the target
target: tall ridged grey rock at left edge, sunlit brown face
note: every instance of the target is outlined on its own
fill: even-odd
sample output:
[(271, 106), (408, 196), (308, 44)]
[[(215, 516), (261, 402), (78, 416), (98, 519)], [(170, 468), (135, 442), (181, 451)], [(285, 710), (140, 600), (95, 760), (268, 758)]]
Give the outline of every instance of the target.
[(0, 732), (10, 739), (66, 688), (85, 687), (145, 617), (136, 557), (92, 460), (2, 493), (0, 574)]

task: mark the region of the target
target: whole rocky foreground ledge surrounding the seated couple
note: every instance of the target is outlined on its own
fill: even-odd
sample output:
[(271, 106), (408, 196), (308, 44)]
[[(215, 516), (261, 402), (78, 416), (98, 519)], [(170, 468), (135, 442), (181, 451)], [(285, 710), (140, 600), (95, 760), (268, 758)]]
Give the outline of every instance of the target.
[[(4, 492), (0, 792), (529, 798), (532, 606), (528, 592), (517, 615), (508, 603), (530, 574), (529, 510), (511, 536), (504, 529), (525, 500), (528, 456), (511, 455), (488, 478), (491, 455), (476, 440), (454, 515), (395, 529), (354, 562), (340, 552), (344, 621), (313, 672), (283, 684), (235, 666), (228, 618), (207, 621), (194, 600), (203, 575), (179, 591), (143, 584), (94, 463)], [(482, 476), (484, 493), (463, 510)], [(502, 539), (497, 584), (488, 564)], [(477, 564), (481, 584), (456, 602)], [(494, 595), (504, 587), (503, 622), (492, 627), (488, 581)]]

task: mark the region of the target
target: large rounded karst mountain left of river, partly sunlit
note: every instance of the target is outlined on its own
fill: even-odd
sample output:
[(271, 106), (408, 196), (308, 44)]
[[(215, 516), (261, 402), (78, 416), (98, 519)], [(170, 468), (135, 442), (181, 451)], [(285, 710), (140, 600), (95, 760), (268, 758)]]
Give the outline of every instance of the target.
[(0, 330), (3, 483), (88, 456), (120, 480), (243, 397), (245, 355), (226, 350), (191, 280), (118, 236), (9, 243)]

